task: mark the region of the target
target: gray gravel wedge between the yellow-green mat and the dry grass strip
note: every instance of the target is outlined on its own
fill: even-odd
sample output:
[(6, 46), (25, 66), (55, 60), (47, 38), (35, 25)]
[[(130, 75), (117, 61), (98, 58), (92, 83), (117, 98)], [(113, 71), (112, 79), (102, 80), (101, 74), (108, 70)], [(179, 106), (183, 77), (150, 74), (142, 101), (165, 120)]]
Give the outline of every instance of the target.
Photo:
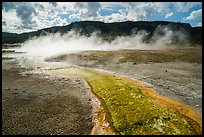
[(166, 62), (91, 66), (144, 81), (155, 91), (202, 112), (202, 64)]

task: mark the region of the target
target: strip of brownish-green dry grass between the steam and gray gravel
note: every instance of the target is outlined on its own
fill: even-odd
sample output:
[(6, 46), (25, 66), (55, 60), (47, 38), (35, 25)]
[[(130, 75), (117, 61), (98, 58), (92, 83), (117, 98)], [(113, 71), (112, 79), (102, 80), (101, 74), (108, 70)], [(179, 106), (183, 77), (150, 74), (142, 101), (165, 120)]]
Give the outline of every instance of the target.
[[(185, 61), (190, 63), (202, 63), (202, 47), (184, 47), (160, 50), (117, 50), (117, 51), (84, 51), (79, 54), (67, 54), (52, 57), (47, 61), (76, 62), (94, 61), (93, 65), (120, 64), (131, 62), (134, 65), (141, 63), (162, 63)], [(79, 63), (80, 64), (80, 63)]]

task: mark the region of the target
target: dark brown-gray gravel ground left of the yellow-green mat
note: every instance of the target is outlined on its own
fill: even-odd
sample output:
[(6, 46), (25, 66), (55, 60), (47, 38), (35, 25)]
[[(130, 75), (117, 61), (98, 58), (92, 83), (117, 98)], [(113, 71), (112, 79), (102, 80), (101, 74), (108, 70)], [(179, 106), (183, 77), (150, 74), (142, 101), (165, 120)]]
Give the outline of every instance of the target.
[(3, 135), (89, 135), (92, 105), (84, 82), (26, 74), (2, 60)]

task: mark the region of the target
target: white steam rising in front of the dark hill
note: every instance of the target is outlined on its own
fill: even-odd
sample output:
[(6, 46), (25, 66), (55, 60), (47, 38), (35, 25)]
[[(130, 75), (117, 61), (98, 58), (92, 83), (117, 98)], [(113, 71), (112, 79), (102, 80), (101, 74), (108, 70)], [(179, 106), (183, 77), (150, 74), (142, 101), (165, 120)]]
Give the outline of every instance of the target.
[[(161, 35), (162, 33), (162, 35)], [(47, 58), (60, 54), (68, 54), (85, 50), (119, 50), (119, 49), (157, 49), (171, 44), (176, 38), (180, 43), (187, 42), (187, 35), (181, 31), (172, 31), (168, 27), (159, 26), (150, 43), (145, 43), (146, 31), (139, 31), (130, 36), (120, 36), (111, 42), (104, 41), (97, 33), (90, 37), (79, 35), (75, 31), (66, 34), (47, 34), (35, 37), (22, 44), (17, 49), (26, 52), (31, 57)]]

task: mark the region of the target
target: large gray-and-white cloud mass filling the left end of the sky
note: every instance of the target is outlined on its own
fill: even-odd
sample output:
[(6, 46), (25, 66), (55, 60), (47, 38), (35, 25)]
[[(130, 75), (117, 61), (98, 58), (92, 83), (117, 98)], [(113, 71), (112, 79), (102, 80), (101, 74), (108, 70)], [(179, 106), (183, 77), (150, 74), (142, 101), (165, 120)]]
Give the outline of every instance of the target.
[(5, 32), (22, 33), (67, 25), (67, 20), (58, 16), (63, 10), (60, 6), (48, 2), (5, 2), (2, 7), (2, 20), (5, 22), (2, 29)]

